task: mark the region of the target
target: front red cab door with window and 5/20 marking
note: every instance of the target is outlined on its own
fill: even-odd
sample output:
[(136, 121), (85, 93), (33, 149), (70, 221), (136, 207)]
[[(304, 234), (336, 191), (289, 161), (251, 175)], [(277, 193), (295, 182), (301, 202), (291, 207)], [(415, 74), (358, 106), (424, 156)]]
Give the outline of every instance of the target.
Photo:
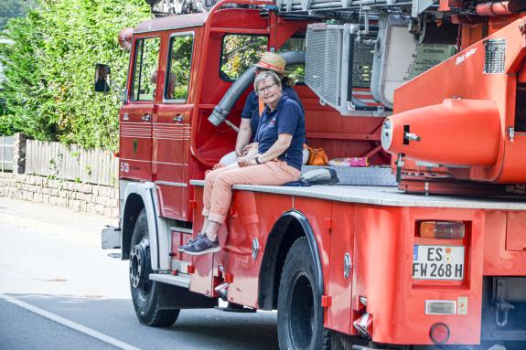
[(152, 180), (152, 121), (154, 118), (159, 36), (137, 37), (134, 41), (128, 103), (121, 109), (121, 178)]

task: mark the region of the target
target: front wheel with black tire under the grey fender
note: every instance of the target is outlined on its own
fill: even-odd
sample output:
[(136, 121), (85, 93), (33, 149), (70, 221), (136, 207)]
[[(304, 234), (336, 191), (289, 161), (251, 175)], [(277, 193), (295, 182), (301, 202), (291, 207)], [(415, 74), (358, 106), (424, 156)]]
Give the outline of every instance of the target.
[(161, 285), (150, 281), (152, 272), (148, 218), (145, 209), (137, 217), (130, 252), (130, 289), (139, 321), (152, 327), (169, 327), (177, 321), (180, 310), (160, 309)]

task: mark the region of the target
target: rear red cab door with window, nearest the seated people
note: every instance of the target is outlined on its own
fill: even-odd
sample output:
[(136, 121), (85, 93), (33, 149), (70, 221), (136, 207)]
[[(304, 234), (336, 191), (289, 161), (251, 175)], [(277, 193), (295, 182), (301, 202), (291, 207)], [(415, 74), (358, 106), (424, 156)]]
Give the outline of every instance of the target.
[[(161, 215), (188, 220), (188, 163), (190, 115), (194, 108), (190, 73), (194, 32), (178, 31), (167, 37), (164, 76), (159, 77), (162, 101), (153, 123), (154, 160), (152, 171), (163, 203)], [(164, 52), (163, 52), (164, 53)], [(161, 92), (161, 91), (159, 91)]]

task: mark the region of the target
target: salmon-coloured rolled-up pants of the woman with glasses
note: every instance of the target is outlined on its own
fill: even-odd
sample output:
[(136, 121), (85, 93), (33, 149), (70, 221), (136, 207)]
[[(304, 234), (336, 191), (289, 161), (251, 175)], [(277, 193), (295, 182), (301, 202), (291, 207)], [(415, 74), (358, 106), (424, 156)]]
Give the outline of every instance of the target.
[(233, 185), (280, 186), (298, 179), (301, 172), (284, 161), (273, 161), (251, 166), (237, 163), (209, 172), (205, 176), (203, 216), (222, 224), (231, 207)]

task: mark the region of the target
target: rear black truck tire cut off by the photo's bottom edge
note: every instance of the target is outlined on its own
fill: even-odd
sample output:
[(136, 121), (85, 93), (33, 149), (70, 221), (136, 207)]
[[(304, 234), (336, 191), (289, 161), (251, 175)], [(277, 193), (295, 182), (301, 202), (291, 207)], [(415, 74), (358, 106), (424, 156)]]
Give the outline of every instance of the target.
[(317, 272), (306, 238), (297, 239), (284, 260), (277, 309), (282, 350), (330, 349), (330, 332), (323, 326)]

